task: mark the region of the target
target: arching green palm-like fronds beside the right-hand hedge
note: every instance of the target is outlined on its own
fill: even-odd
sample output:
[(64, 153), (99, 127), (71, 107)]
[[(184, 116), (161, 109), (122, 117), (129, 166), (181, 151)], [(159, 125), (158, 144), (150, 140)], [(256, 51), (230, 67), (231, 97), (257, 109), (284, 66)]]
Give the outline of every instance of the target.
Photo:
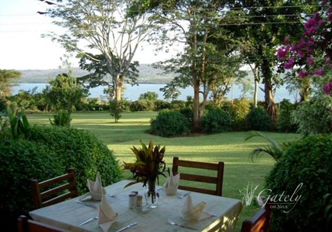
[(258, 131), (251, 131), (250, 135), (246, 137), (245, 140), (247, 141), (252, 137), (261, 137), (269, 142), (269, 144), (266, 144), (264, 147), (256, 148), (250, 152), (252, 161), (255, 159), (259, 160), (263, 154), (271, 155), (275, 161), (278, 161), (278, 159), (280, 159), (285, 154), (287, 148), (291, 145), (289, 142), (277, 142), (273, 138), (270, 138), (269, 136), (266, 136), (265, 134)]

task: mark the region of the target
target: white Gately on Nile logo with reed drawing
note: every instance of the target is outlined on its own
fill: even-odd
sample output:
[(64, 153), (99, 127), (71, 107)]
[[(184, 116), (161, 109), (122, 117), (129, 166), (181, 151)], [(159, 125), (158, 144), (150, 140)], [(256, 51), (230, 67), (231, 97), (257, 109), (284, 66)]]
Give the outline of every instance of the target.
[[(262, 190), (257, 196), (254, 195), (258, 185), (253, 189), (251, 183), (251, 189), (249, 189), (249, 183), (247, 188), (243, 188), (240, 191), (240, 195), (242, 195), (242, 205), (248, 206), (253, 203), (253, 199), (256, 197), (258, 202), (262, 202), (262, 207), (265, 207), (266, 204), (269, 204), (270, 208), (280, 208), (284, 209), (284, 213), (290, 212), (294, 206), (296, 205), (297, 201), (300, 199), (301, 195), (297, 194), (297, 192), (301, 189), (303, 183), (300, 183), (296, 189), (294, 190), (292, 195), (285, 195), (285, 191), (282, 194), (277, 195), (264, 195), (264, 193), (271, 193), (271, 189), (264, 189)], [(264, 198), (264, 200), (262, 200)], [(261, 204), (260, 204), (261, 205)]]

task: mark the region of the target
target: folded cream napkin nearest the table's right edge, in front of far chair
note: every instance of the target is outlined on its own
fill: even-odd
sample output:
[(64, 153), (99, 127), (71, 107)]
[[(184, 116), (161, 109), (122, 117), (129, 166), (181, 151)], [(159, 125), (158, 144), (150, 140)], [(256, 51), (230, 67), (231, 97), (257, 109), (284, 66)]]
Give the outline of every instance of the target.
[(185, 203), (183, 204), (182, 209), (181, 209), (182, 218), (185, 220), (199, 221), (199, 220), (210, 217), (211, 214), (203, 211), (206, 204), (207, 203), (205, 201), (202, 201), (201, 203), (198, 203), (197, 205), (193, 205), (191, 196), (188, 195), (186, 197)]

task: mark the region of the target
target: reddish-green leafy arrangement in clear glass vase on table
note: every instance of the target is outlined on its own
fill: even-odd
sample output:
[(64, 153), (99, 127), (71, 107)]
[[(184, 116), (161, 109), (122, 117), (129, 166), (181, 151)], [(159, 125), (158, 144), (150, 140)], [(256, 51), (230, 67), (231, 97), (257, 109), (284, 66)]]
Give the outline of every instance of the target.
[(128, 169), (133, 173), (135, 182), (127, 184), (125, 187), (143, 182), (143, 187), (148, 183), (148, 189), (145, 193), (148, 206), (150, 208), (158, 207), (159, 194), (156, 191), (156, 181), (159, 184), (159, 175), (165, 176), (165, 171), (169, 173), (169, 168), (166, 169), (166, 163), (163, 160), (165, 154), (165, 146), (160, 149), (160, 145), (153, 145), (150, 140), (148, 146), (140, 141), (142, 148), (137, 149), (135, 146), (130, 148), (136, 157), (136, 162), (125, 163), (124, 169)]

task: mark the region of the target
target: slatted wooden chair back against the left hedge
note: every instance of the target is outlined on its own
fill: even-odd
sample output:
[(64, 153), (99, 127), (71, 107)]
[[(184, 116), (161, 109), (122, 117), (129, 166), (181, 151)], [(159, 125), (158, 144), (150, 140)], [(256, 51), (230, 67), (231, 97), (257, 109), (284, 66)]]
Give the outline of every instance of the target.
[[(52, 185), (59, 184), (62, 181), (68, 181), (68, 182), (50, 189)], [(45, 180), (42, 182), (39, 182), (38, 180), (32, 180), (31, 187), (32, 187), (33, 201), (36, 209), (64, 201), (68, 198), (73, 198), (78, 196), (77, 186), (76, 186), (76, 175), (75, 175), (75, 170), (73, 168), (69, 168), (67, 174), (49, 180)], [(47, 190), (41, 192), (42, 189), (46, 187)], [(69, 191), (58, 196), (58, 194), (60, 192), (63, 192), (64, 190), (69, 190)], [(44, 199), (46, 200), (43, 201)]]

